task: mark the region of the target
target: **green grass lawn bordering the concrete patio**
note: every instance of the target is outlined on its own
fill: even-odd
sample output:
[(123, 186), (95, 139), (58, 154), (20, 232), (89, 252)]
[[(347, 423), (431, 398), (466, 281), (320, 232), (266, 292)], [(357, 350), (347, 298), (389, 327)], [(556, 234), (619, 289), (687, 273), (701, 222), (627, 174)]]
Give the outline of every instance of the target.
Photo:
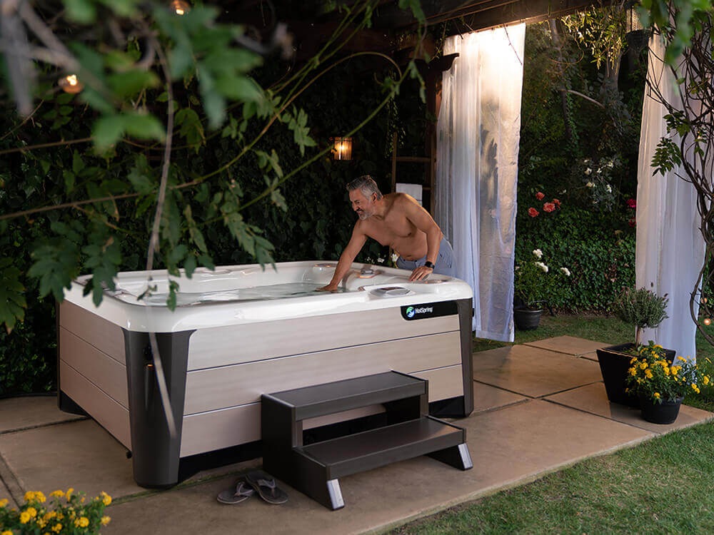
[[(630, 327), (611, 317), (558, 315), (544, 316), (538, 330), (516, 332), (515, 343), (562, 335), (613, 344), (634, 338)], [(476, 340), (475, 350), (504, 345)], [(699, 334), (697, 354), (700, 365), (714, 372), (705, 360), (714, 357), (714, 347)], [(714, 389), (702, 394), (685, 403), (714, 410)], [(448, 509), (393, 534), (710, 534), (713, 444), (714, 424), (691, 427)]]

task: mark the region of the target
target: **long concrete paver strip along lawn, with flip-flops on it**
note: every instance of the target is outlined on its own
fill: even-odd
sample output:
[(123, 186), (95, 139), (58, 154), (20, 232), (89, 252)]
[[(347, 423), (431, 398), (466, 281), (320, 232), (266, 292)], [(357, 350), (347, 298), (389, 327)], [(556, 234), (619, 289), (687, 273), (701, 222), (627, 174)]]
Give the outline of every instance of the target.
[[(531, 400), (457, 422), (466, 427), (474, 467), (460, 472), (418, 457), (341, 478), (345, 508), (329, 511), (285, 484), (290, 501), (269, 506), (251, 498), (224, 506), (216, 494), (235, 478), (111, 506), (105, 534), (143, 530), (223, 534), (351, 534), (385, 529), (447, 506), (537, 478), (579, 459), (651, 437), (644, 429)], [(210, 521), (208, 521), (210, 519)], [(210, 526), (210, 527), (209, 527)]]

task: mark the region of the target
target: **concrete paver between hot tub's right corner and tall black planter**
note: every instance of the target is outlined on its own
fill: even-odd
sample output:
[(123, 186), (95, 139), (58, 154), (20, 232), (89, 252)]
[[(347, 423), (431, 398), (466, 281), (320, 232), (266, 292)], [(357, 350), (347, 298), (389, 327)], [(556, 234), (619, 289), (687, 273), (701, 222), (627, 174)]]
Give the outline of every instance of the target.
[(541, 397), (600, 381), (602, 375), (598, 364), (591, 360), (513, 345), (474, 354), (473, 378), (518, 394)]

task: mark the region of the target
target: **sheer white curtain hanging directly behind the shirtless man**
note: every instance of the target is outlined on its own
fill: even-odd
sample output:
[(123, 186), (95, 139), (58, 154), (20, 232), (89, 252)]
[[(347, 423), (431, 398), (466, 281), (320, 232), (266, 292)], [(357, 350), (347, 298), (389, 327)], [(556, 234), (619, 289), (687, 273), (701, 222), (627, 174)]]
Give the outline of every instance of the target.
[(526, 25), (446, 39), (435, 218), (473, 287), (477, 337), (513, 341), (513, 250)]

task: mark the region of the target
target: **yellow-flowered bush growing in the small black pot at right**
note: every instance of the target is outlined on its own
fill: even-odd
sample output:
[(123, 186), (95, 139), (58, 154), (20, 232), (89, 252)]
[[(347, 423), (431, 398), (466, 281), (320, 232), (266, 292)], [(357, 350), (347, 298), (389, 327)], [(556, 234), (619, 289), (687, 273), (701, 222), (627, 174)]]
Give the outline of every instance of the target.
[(690, 392), (699, 394), (700, 384), (708, 385), (711, 378), (704, 374), (693, 358), (677, 357), (673, 363), (665, 358), (661, 345), (650, 340), (639, 345), (637, 355), (630, 360), (627, 377), (628, 392), (644, 396), (654, 403), (675, 401)]

